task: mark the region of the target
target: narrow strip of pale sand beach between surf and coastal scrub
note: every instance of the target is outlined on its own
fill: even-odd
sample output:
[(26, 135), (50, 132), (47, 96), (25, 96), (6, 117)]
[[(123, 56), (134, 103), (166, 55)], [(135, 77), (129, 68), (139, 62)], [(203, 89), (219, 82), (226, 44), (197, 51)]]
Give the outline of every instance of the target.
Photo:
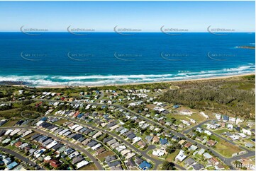
[[(99, 85), (99, 86), (73, 86), (74, 88), (96, 88), (96, 87), (106, 87), (106, 86), (136, 86), (136, 85), (143, 85), (143, 84), (153, 84), (153, 83), (174, 83), (174, 82), (187, 82), (187, 81), (207, 81), (207, 80), (219, 80), (223, 78), (233, 78), (233, 77), (240, 77), (240, 76), (252, 76), (255, 73), (244, 73), (239, 75), (233, 76), (215, 76), (209, 78), (195, 78), (195, 79), (184, 79), (184, 80), (177, 80), (177, 81), (156, 81), (156, 82), (144, 82), (144, 83), (121, 83), (121, 84), (107, 84), (107, 85)], [(9, 85), (9, 86), (21, 86), (26, 87), (26, 85)], [(72, 86), (71, 86), (72, 87)], [(67, 88), (67, 86), (35, 86), (35, 88)]]

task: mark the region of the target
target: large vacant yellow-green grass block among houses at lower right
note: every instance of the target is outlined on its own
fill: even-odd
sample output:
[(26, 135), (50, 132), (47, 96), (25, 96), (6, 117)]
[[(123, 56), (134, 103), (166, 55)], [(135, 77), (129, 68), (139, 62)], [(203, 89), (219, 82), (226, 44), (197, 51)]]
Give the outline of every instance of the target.
[(228, 143), (223, 139), (220, 139), (220, 141), (216, 143), (216, 148), (214, 149), (227, 158), (232, 157), (233, 153), (239, 153), (242, 151), (238, 146), (234, 146), (233, 144)]

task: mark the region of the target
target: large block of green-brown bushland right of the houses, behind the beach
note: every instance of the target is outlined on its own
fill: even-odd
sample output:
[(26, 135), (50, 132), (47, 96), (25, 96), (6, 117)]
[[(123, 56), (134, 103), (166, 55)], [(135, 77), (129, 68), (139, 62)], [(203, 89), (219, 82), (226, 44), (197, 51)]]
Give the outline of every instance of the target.
[(255, 75), (175, 82), (172, 85), (179, 86), (179, 89), (167, 90), (161, 100), (196, 110), (255, 118)]

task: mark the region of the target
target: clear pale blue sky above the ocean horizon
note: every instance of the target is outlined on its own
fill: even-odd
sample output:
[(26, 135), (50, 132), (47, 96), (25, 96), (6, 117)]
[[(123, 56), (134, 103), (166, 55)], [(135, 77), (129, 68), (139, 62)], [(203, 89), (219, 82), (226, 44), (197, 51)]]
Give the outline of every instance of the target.
[(0, 1), (0, 31), (24, 28), (99, 32), (118, 28), (206, 32), (212, 28), (255, 32), (255, 1)]

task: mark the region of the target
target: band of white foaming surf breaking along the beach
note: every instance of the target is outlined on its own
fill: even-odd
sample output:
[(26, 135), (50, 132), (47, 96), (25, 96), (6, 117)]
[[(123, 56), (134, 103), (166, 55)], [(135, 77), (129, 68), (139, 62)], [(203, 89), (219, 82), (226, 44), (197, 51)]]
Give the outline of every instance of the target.
[(138, 75), (91, 75), (91, 76), (0, 76), (0, 81), (23, 81), (33, 86), (101, 86), (121, 83), (147, 83), (160, 81), (179, 81), (196, 78), (211, 78), (216, 76), (233, 76), (255, 72), (255, 64), (238, 66), (237, 68), (220, 69), (199, 72), (178, 72), (176, 74), (138, 74)]

